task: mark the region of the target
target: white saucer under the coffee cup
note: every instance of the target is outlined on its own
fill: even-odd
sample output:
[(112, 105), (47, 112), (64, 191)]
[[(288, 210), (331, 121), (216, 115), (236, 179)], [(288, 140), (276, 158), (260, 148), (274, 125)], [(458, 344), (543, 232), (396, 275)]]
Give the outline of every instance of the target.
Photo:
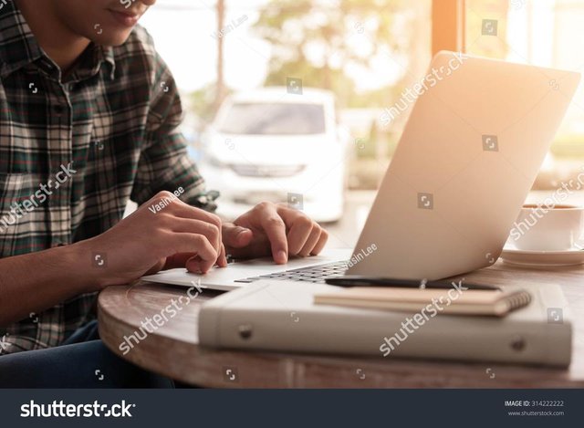
[(584, 264), (584, 250), (572, 248), (565, 251), (528, 251), (505, 245), (501, 258), (505, 263), (516, 266), (575, 266)]

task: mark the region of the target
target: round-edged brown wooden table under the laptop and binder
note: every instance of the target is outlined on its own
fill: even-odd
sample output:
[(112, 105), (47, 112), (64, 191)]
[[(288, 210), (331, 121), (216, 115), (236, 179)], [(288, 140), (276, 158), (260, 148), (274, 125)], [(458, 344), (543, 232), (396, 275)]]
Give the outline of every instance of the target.
[(525, 269), (499, 260), (464, 277), (469, 282), (495, 285), (512, 281), (527, 288), (534, 282), (560, 284), (574, 327), (569, 369), (206, 349), (198, 345), (198, 312), (205, 300), (218, 295), (206, 289), (124, 356), (119, 348), (124, 336), (140, 329), (146, 317), (160, 314), (173, 298), (186, 296), (184, 287), (147, 283), (108, 287), (101, 292), (99, 334), (110, 350), (125, 359), (172, 379), (205, 387), (584, 388), (584, 266)]

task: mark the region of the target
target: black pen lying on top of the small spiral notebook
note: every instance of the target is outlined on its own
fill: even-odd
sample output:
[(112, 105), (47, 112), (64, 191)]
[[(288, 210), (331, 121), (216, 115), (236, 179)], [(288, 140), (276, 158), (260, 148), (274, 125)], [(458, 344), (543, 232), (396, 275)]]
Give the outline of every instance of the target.
[[(464, 278), (463, 278), (464, 280)], [(460, 286), (469, 290), (492, 290), (500, 291), (500, 287), (488, 286), (485, 284), (463, 284)], [(331, 286), (339, 287), (407, 287), (407, 288), (454, 288), (455, 281), (420, 281), (413, 279), (395, 279), (386, 277), (360, 277), (359, 275), (347, 275), (345, 277), (329, 277), (325, 280)], [(463, 289), (464, 289), (463, 288)]]

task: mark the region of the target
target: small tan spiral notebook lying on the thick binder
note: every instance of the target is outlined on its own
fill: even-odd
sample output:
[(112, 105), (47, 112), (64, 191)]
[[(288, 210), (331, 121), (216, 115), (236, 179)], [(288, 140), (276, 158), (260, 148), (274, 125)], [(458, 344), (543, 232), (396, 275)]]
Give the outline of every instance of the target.
[(525, 289), (458, 291), (455, 288), (350, 287), (318, 293), (317, 305), (415, 312), (422, 308), (438, 314), (505, 317), (527, 306), (531, 295)]

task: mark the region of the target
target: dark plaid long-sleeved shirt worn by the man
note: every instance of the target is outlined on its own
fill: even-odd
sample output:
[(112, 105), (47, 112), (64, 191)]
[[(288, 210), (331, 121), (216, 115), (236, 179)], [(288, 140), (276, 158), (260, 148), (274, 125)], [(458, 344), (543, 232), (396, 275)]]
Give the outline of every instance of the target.
[[(183, 187), (183, 201), (213, 210), (181, 119), (172, 75), (140, 26), (120, 47), (91, 44), (63, 78), (14, 2), (4, 5), (0, 257), (99, 235), (129, 200), (142, 204), (162, 190)], [(95, 318), (95, 302), (96, 293), (84, 294), (0, 327), (0, 354), (58, 345)]]

